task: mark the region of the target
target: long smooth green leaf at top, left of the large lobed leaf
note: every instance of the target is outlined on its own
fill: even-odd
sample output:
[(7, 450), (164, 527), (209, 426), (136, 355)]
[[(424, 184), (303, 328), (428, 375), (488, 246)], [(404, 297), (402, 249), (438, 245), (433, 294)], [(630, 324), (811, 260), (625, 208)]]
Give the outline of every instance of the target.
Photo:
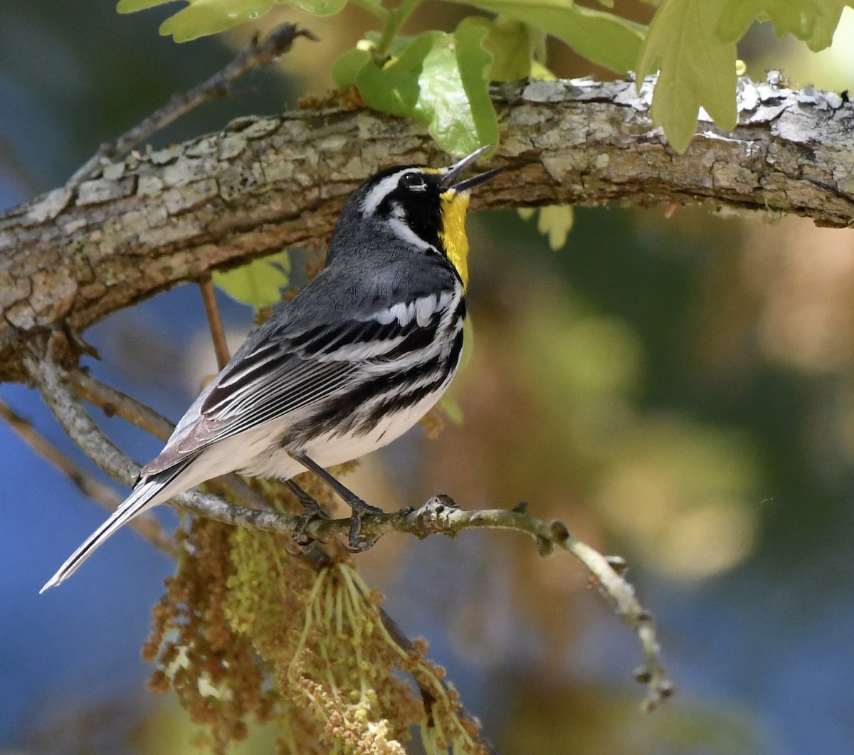
[(633, 21), (569, 0), (474, 0), (473, 4), (545, 29), (588, 60), (618, 73), (635, 67), (645, 32)]

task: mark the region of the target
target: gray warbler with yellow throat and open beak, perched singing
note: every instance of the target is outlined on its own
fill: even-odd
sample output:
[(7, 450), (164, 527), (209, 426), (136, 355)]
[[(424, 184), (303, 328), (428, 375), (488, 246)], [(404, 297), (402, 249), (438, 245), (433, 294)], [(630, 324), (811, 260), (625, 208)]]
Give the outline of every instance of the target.
[[(325, 267), (249, 335), (180, 419), (131, 494), (40, 592), (64, 582), (124, 524), (212, 477), (285, 481), (315, 472), (362, 516), (382, 513), (326, 467), (382, 448), (416, 424), (451, 383), (463, 349), (471, 190), (512, 165), (461, 176), (493, 145), (443, 168), (388, 167), (348, 197)], [(303, 520), (305, 522), (305, 520)]]

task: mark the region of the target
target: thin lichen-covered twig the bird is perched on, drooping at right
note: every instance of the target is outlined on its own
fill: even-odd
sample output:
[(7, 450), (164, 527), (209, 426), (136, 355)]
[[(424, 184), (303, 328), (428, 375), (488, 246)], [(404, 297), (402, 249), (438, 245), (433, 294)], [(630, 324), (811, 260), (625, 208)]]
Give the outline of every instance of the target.
[[(132, 484), (137, 477), (139, 466), (122, 454), (85, 412), (79, 399), (67, 385), (67, 372), (52, 360), (38, 358), (32, 354), (27, 355), (24, 362), (32, 382), (41, 391), (44, 401), (73, 442), (110, 477), (128, 485)], [(235, 506), (219, 496), (195, 490), (176, 495), (172, 503), (197, 516), (225, 524), (288, 536), (293, 536), (297, 527), (303, 524), (300, 518), (290, 514)], [(447, 496), (434, 496), (418, 509), (409, 507), (395, 513), (368, 515), (362, 519), (361, 532), (369, 538), (378, 538), (393, 531), (424, 538), (436, 534), (455, 536), (463, 530), (475, 528), (521, 532), (534, 539), (542, 555), (552, 553), (553, 548), (557, 546), (579, 559), (595, 577), (617, 616), (629, 624), (638, 636), (643, 653), (643, 666), (635, 676), (646, 684), (644, 709), (654, 710), (673, 694), (674, 687), (665, 676), (661, 665), (654, 620), (652, 615), (640, 606), (635, 596), (635, 588), (614, 570), (609, 559), (570, 535), (562, 522), (536, 518), (518, 509), (465, 511)], [(317, 541), (330, 542), (346, 540), (349, 530), (349, 518), (318, 518), (305, 525), (303, 531)]]

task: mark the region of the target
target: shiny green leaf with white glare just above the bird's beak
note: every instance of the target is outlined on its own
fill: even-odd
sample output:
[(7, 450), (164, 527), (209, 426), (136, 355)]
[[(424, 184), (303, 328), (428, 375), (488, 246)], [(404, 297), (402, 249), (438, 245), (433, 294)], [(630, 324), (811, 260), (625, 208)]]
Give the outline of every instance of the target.
[(483, 48), (485, 34), (477, 27), (441, 34), (418, 77), (415, 113), (451, 155), (466, 155), (498, 141), (498, 119), (486, 79), (492, 55)]

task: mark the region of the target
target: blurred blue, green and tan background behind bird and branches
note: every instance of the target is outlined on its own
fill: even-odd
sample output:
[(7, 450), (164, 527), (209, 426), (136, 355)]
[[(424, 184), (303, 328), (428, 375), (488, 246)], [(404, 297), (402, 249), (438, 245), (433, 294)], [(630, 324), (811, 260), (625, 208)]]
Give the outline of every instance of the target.
[[(646, 20), (645, 6), (623, 5)], [(173, 11), (5, 0), (0, 208), (64, 182), (99, 143), (249, 38), (242, 29), (174, 44), (157, 35)], [(405, 31), (451, 29), (465, 12), (424, 3)], [(294, 18), (322, 43), (296, 44), (278, 71), (251, 74), (157, 143), (327, 91), (332, 56), (371, 27), (358, 9), (329, 20), (281, 11), (264, 24)], [(854, 85), (851, 9), (819, 56), (766, 26), (740, 48), (755, 78), (775, 67), (798, 84)], [(590, 73), (559, 44), (549, 53), (560, 76)], [(527, 500), (622, 554), (679, 692), (643, 716), (635, 636), (587, 588), (582, 565), (540, 559), (518, 536), (383, 539), (358, 561), (389, 613), (430, 641), (501, 752), (851, 752), (851, 232), (692, 208), (577, 210), (557, 250), (536, 217), (513, 211), (477, 214), (470, 230), (476, 346), (452, 389), (464, 422), (447, 422), (435, 441), (416, 428), (348, 484), (386, 509), (434, 493), (471, 508)], [(237, 343), (252, 314), (221, 304)], [(85, 337), (103, 356), (97, 377), (172, 419), (213, 372), (195, 286)], [(3, 385), (0, 397), (83, 461), (38, 395)], [(140, 461), (160, 448), (121, 420), (103, 422)], [(5, 424), (0, 500), (0, 752), (193, 752), (173, 700), (144, 692), (150, 669), (139, 658), (172, 565), (123, 531), (38, 596), (104, 512)], [(269, 751), (254, 740), (241, 752)]]

